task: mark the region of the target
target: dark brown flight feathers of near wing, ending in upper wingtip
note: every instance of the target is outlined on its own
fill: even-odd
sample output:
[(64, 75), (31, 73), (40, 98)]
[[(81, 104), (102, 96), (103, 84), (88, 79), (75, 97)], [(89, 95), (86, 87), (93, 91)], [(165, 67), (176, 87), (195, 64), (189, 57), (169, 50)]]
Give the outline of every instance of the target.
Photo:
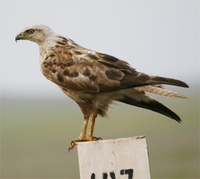
[(186, 83), (180, 80), (159, 76), (149, 76), (147, 74), (137, 72), (134, 68), (131, 68), (127, 62), (119, 60), (110, 55), (101, 54), (98, 62), (112, 68), (110, 70), (106, 70), (106, 75), (112, 80), (120, 80), (121, 89), (155, 84), (168, 84), (188, 87)]

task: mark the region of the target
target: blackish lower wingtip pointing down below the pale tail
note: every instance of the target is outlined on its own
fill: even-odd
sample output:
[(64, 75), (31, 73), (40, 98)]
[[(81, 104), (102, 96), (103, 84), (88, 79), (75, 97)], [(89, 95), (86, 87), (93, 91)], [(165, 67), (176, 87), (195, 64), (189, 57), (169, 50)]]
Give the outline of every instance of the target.
[(140, 100), (138, 99), (138, 97), (133, 98), (131, 96), (124, 95), (123, 98), (118, 99), (118, 101), (158, 112), (181, 123), (181, 119), (177, 114), (153, 98), (144, 95)]

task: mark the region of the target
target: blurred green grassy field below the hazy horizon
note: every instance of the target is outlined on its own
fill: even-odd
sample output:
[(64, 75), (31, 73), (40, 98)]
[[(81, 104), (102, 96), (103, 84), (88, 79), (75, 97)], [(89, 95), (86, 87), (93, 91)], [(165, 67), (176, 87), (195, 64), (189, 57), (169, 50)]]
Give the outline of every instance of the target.
[[(180, 115), (177, 122), (117, 103), (98, 117), (94, 135), (103, 139), (146, 135), (152, 178), (199, 178), (198, 94), (159, 100)], [(158, 99), (158, 97), (157, 97)], [(1, 178), (79, 178), (77, 149), (82, 114), (71, 100), (3, 100)]]

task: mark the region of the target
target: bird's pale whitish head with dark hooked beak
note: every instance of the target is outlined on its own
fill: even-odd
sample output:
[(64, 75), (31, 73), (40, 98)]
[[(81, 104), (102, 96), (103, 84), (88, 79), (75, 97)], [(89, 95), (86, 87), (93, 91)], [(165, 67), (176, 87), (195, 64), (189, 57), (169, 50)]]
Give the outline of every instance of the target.
[(40, 45), (53, 33), (54, 32), (49, 27), (38, 23), (24, 28), (15, 37), (15, 41), (17, 42), (17, 40), (30, 40)]

